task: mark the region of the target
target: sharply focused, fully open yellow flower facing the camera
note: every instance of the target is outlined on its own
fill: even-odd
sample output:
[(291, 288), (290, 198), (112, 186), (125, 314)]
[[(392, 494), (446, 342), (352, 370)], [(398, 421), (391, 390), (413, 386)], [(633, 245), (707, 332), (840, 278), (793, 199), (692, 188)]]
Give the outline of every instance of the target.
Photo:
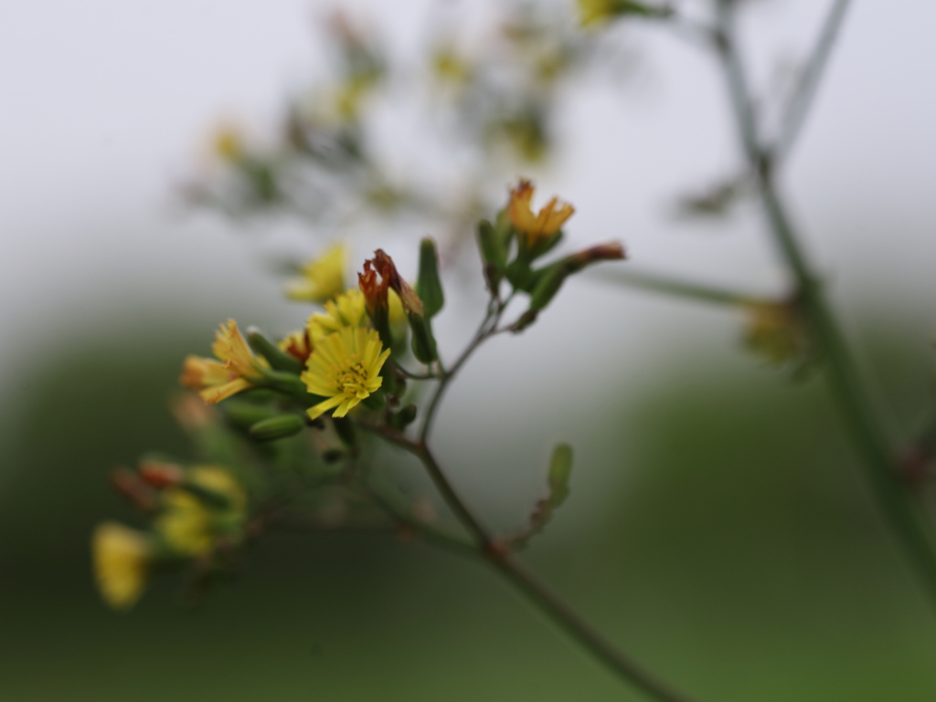
[(344, 327), (315, 344), (302, 381), (312, 394), (329, 399), (309, 408), (315, 419), (331, 408), (333, 416), (344, 417), (348, 410), (380, 388), (380, 369), (390, 355), (383, 351), (373, 329)]

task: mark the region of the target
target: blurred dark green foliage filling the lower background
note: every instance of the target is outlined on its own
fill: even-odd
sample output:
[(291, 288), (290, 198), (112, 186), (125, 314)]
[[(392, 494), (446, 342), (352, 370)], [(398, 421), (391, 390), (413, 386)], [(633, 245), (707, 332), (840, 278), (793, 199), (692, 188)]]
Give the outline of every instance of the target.
[[(108, 471), (154, 448), (189, 452), (166, 399), (197, 343), (153, 335), (143, 354), (88, 341), (52, 367), (24, 365), (28, 394), (5, 398), (0, 698), (639, 698), (483, 566), (395, 537), (272, 536), (204, 603), (168, 577), (132, 612), (106, 609), (89, 535), (104, 516), (133, 523)], [(906, 379), (929, 359), (892, 328), (874, 338), (885, 391), (911, 416), (920, 396)], [(585, 447), (612, 470), (577, 468), (532, 565), (701, 699), (932, 699), (932, 613), (825, 397), (736, 355), (572, 420), (595, 437), (624, 423), (638, 445)], [(523, 450), (505, 447), (505, 465)], [(577, 485), (615, 471), (627, 480), (609, 481), (601, 504), (576, 505)]]

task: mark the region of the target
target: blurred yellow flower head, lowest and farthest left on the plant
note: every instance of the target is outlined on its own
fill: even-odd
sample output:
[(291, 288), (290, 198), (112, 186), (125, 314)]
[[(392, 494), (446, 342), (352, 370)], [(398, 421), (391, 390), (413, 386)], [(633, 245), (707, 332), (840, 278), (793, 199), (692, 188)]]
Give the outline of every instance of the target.
[(130, 609), (142, 595), (153, 561), (151, 537), (116, 522), (97, 525), (92, 537), (95, 580), (113, 609)]

